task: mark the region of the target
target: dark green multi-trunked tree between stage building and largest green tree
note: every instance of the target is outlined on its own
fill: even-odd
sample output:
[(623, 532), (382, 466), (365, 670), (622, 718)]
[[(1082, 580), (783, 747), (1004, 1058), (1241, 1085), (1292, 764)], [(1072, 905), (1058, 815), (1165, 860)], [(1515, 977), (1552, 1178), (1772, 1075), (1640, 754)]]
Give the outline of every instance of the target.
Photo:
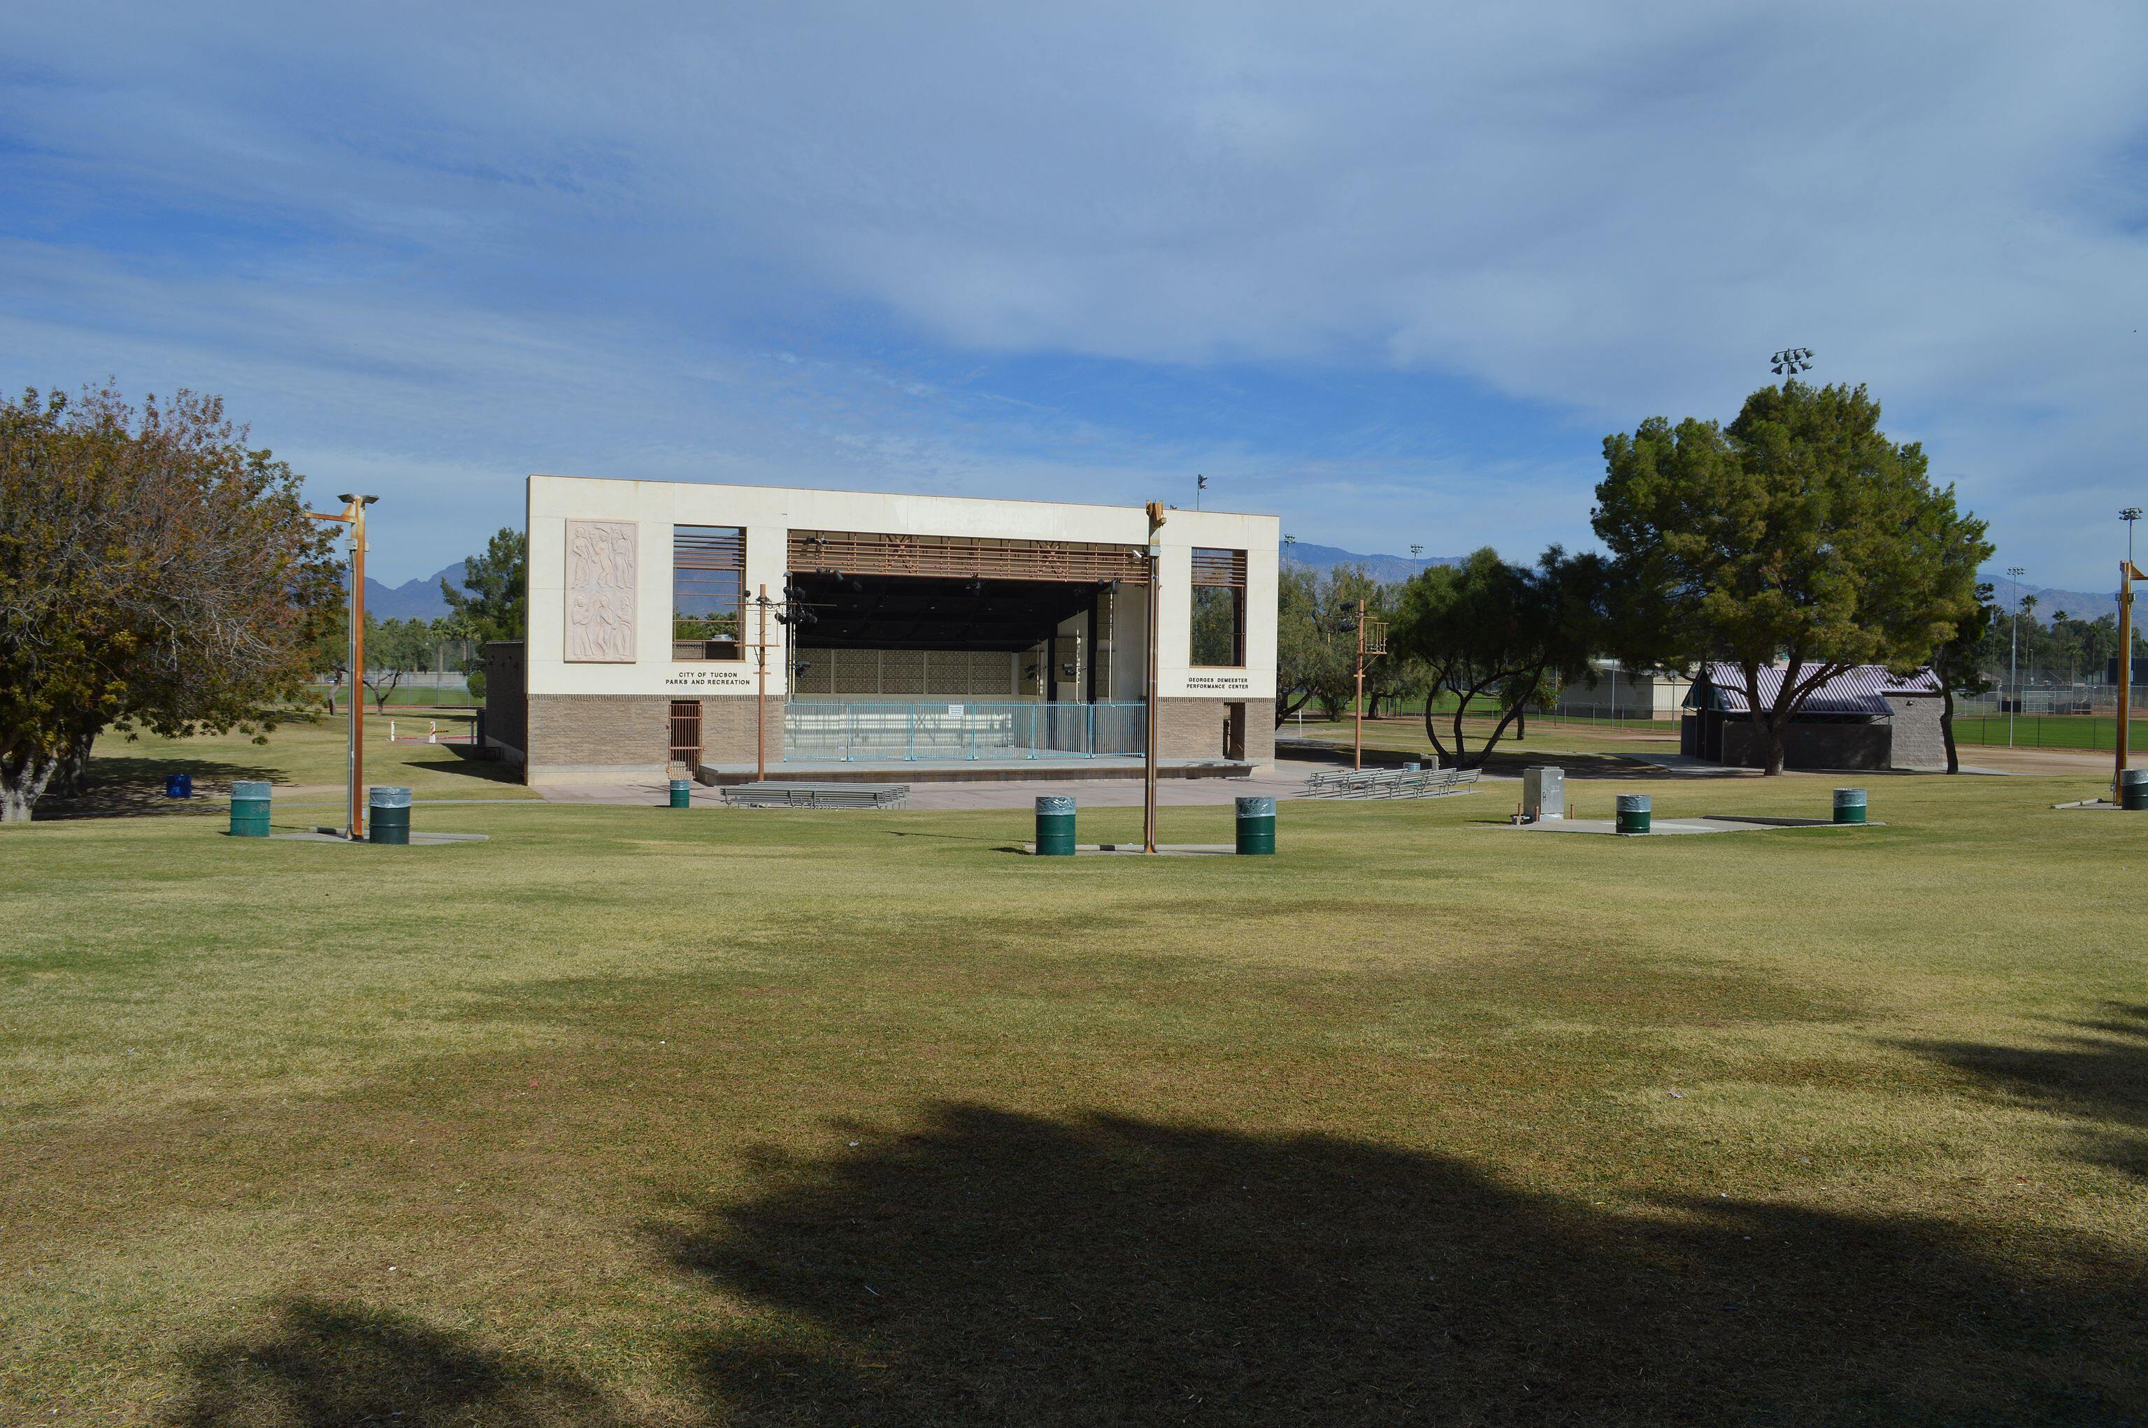
[[(1547, 685), (1587, 670), (1605, 629), (1605, 586), (1600, 556), (1568, 556), (1557, 545), (1534, 567), (1508, 565), (1486, 545), (1403, 586), (1388, 649), (1431, 670), (1424, 734), (1443, 762), (1480, 767)], [(1454, 694), (1446, 739), (1439, 689)], [(1471, 752), (1465, 719), (1484, 704), (1497, 719)]]

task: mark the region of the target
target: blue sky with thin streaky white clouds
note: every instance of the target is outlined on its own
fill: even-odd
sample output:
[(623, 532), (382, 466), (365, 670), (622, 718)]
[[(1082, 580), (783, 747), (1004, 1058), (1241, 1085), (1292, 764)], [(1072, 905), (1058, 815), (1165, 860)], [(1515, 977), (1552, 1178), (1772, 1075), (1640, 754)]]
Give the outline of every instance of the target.
[(2148, 6), (0, 9), (0, 382), (531, 470), (1587, 543), (1605, 432), (1862, 380), (2036, 584), (2148, 502)]

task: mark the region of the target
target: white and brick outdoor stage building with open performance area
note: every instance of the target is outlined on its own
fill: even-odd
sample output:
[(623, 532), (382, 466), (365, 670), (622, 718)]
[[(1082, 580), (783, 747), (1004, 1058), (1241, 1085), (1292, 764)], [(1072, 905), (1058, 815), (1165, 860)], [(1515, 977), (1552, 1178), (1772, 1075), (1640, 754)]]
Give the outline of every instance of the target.
[(1141, 507), (531, 477), (488, 741), (535, 782), (750, 767), (765, 655), (771, 764), (889, 722), (960, 726), (919, 760), (1138, 752), (1153, 595), (1158, 756), (1272, 762), (1276, 518), (1169, 511), (1156, 541), (1151, 591)]

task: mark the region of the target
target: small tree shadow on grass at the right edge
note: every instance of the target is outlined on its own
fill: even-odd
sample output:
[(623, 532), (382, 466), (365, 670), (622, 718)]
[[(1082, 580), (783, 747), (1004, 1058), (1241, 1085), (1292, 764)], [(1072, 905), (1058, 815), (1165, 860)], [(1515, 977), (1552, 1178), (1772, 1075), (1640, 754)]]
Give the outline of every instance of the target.
[(2148, 1179), (2148, 1005), (2105, 1003), (2053, 1046), (1910, 1041), (1989, 1089), (2090, 1121), (2084, 1157)]

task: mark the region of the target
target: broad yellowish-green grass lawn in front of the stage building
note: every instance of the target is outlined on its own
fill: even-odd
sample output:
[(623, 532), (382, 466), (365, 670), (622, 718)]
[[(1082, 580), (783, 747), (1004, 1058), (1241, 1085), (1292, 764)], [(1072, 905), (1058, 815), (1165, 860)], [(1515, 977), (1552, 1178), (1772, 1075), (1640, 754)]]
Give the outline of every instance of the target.
[(2148, 818), (1871, 792), (0, 829), (0, 1419), (2144, 1422)]

